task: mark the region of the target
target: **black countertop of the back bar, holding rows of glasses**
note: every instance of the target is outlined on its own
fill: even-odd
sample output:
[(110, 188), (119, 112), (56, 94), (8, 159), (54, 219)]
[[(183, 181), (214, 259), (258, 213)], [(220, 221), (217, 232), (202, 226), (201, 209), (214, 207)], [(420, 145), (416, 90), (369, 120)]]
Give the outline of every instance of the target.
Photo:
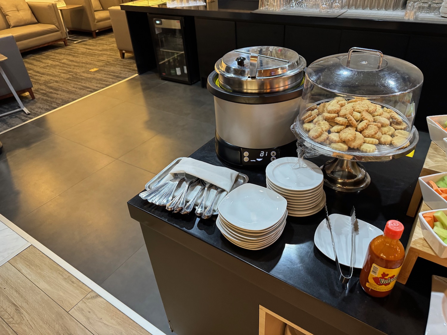
[[(377, 31), (401, 31), (405, 34), (429, 34), (430, 36), (447, 35), (447, 25), (423, 23), (418, 21), (386, 21), (372, 19), (351, 19), (340, 17), (306, 17), (286, 13), (253, 13), (258, 8), (257, 0), (215, 0), (206, 6), (167, 8), (166, 4), (156, 6), (134, 6), (122, 4), (121, 8), (131, 12), (146, 12), (157, 15), (207, 17), (231, 21), (253, 21), (285, 25), (302, 25), (313, 27), (339, 27), (346, 29), (373, 29)], [(307, 36), (297, 37), (305, 43)]]

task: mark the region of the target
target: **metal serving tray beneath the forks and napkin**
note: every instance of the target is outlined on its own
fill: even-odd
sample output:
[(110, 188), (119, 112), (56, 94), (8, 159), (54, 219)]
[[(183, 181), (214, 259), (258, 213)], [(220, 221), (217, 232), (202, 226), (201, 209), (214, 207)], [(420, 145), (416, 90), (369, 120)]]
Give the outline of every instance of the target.
[[(153, 187), (155, 187), (156, 185), (160, 184), (160, 183), (164, 183), (167, 180), (171, 180), (172, 176), (169, 174), (169, 172), (172, 171), (173, 167), (175, 167), (178, 163), (180, 163), (180, 161), (182, 159), (184, 159), (185, 157), (179, 157), (177, 159), (175, 159), (172, 163), (170, 163), (167, 167), (165, 167), (163, 170), (161, 170), (155, 177), (153, 177), (151, 180), (148, 181), (148, 183), (146, 184), (145, 188), (147, 190), (152, 189)], [(239, 173), (237, 175), (237, 178), (230, 190), (230, 192), (235, 189), (236, 187), (239, 187), (240, 185), (246, 184), (249, 181), (249, 177), (243, 173)], [(178, 193), (181, 192), (181, 188), (185, 185), (185, 181), (181, 181), (181, 183), (179, 183), (179, 185), (177, 186), (177, 190), (174, 193), (174, 197), (177, 196)], [(200, 185), (196, 185), (193, 188), (190, 188), (190, 190), (188, 191), (188, 195), (186, 196), (186, 203), (188, 203), (188, 201), (191, 200), (192, 195), (195, 194), (198, 189), (200, 188)], [(216, 193), (215, 188), (210, 188), (208, 191), (208, 196), (207, 196), (207, 201), (205, 202), (205, 208), (207, 208), (208, 205), (210, 205), (211, 200), (213, 199), (214, 195)], [(219, 197), (217, 198), (214, 208), (215, 211), (213, 212), (213, 215), (215, 214), (219, 214), (219, 212), (217, 211), (217, 207), (220, 204), (220, 201), (223, 200), (223, 198), (228, 194), (227, 191), (223, 191), (222, 193), (219, 194)], [(198, 206), (198, 202), (200, 201), (200, 197), (198, 197), (194, 208), (196, 208)]]

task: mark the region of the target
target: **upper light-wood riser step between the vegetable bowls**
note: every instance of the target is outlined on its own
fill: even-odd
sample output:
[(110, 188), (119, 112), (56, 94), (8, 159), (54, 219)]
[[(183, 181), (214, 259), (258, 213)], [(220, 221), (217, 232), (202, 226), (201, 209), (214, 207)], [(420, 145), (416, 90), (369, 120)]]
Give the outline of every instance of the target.
[[(438, 147), (436, 143), (431, 142), (420, 177), (441, 172), (447, 172), (446, 153), (440, 147)], [(417, 183), (416, 188), (414, 188), (413, 197), (411, 198), (410, 205), (407, 210), (408, 216), (413, 217), (414, 215), (416, 215), (421, 198), (421, 187), (419, 186), (419, 183)]]

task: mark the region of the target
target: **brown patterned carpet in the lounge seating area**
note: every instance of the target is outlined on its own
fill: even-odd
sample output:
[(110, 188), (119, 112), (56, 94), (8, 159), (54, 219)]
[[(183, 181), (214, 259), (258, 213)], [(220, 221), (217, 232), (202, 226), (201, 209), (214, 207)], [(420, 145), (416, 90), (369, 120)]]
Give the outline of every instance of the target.
[[(81, 36), (78, 33), (78, 36)], [(0, 132), (66, 105), (137, 73), (133, 55), (119, 57), (114, 34), (106, 31), (95, 39), (68, 46), (57, 43), (22, 54), (36, 96), (21, 96), (30, 115), (23, 112), (0, 117)], [(99, 70), (90, 72), (90, 69)], [(18, 108), (14, 98), (0, 100), (0, 114)]]

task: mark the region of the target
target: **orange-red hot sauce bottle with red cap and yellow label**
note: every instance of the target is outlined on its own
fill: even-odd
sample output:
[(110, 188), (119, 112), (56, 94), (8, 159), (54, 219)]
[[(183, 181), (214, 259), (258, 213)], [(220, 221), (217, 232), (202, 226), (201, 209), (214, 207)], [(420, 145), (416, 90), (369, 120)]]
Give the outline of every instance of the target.
[(397, 220), (387, 222), (384, 234), (369, 243), (360, 285), (373, 297), (386, 297), (390, 294), (404, 263), (405, 249), (399, 239), (404, 225)]

